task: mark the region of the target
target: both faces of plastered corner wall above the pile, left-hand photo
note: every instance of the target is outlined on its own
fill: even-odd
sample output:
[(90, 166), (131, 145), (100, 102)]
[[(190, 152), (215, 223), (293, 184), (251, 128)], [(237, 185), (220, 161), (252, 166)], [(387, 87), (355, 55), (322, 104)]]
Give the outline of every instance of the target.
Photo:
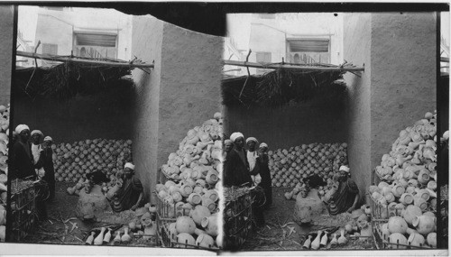
[(136, 101), (133, 157), (139, 176), (154, 189), (157, 170), (189, 129), (220, 111), (219, 37), (191, 32), (151, 17), (133, 19), (133, 54), (155, 60), (150, 75), (133, 72)]

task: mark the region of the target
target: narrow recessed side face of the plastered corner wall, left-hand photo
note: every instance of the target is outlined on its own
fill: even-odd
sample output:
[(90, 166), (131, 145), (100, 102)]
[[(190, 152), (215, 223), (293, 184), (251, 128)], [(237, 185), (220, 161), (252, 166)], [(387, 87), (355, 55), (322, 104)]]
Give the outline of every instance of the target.
[(152, 196), (151, 183), (155, 183), (158, 170), (158, 128), (161, 84), (161, 43), (163, 23), (152, 16), (133, 16), (132, 54), (152, 63), (150, 74), (133, 70), (135, 82), (133, 106), (133, 161), (141, 179), (145, 197)]

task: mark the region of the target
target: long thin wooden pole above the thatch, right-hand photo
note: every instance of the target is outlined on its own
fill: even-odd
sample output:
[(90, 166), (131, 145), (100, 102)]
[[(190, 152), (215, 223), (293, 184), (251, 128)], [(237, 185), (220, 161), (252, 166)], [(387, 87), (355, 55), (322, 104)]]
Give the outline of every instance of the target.
[(364, 68), (354, 67), (354, 66), (344, 66), (343, 68), (339, 66), (330, 67), (315, 67), (315, 66), (301, 66), (293, 64), (268, 64), (263, 65), (256, 62), (245, 62), (240, 60), (223, 60), (224, 65), (234, 65), (241, 67), (251, 67), (259, 69), (299, 69), (299, 70), (318, 70), (318, 71), (364, 71)]

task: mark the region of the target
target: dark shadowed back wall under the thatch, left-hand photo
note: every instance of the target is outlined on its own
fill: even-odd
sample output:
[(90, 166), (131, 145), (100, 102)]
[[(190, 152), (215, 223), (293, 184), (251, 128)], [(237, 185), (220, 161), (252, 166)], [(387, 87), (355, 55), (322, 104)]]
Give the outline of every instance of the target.
[(130, 139), (132, 91), (113, 87), (93, 96), (56, 101), (27, 96), (14, 98), (14, 127), (28, 124), (51, 135), (55, 143), (85, 139)]

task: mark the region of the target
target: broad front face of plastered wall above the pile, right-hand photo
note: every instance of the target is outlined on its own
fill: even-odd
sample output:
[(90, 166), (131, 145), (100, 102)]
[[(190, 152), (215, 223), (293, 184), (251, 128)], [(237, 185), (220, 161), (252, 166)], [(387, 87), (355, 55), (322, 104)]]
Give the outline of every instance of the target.
[(400, 130), (436, 109), (436, 17), (372, 14), (372, 167)]

